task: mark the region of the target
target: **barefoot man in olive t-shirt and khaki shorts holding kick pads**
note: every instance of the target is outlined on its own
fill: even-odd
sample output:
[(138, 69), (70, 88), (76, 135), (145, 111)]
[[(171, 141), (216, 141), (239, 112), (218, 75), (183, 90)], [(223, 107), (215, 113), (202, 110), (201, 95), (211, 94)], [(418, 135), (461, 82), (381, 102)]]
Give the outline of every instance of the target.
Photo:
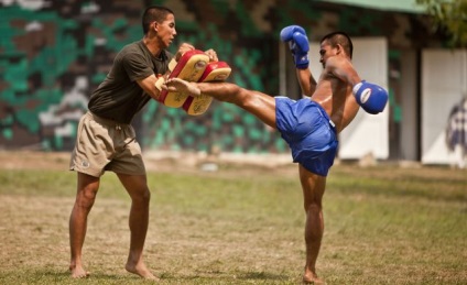
[[(172, 58), (166, 48), (176, 35), (174, 13), (164, 7), (150, 7), (142, 15), (142, 28), (143, 39), (118, 53), (106, 79), (90, 97), (89, 111), (79, 121), (69, 165), (77, 172), (76, 200), (69, 218), (69, 270), (75, 278), (89, 274), (82, 260), (87, 216), (95, 202), (100, 176), (112, 171), (131, 197), (131, 239), (126, 270), (156, 279), (142, 257), (151, 193), (141, 147), (130, 123), (151, 98), (159, 97), (155, 83), (159, 75), (166, 76)], [(189, 50), (194, 46), (182, 44), (175, 57)], [(213, 50), (206, 54), (217, 61)]]

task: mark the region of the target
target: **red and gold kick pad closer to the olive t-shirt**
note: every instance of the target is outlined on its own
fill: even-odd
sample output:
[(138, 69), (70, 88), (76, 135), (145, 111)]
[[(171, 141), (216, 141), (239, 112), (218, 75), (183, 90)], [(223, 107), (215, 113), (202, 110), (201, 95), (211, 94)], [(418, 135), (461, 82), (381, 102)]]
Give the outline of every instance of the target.
[[(175, 63), (175, 59), (170, 63), (170, 69)], [(177, 77), (186, 81), (196, 83), (203, 76), (208, 63), (209, 56), (204, 52), (198, 50), (188, 51), (178, 59), (172, 73), (169, 75), (169, 78)], [(167, 107), (180, 108), (187, 98), (187, 94), (161, 90), (158, 100)]]

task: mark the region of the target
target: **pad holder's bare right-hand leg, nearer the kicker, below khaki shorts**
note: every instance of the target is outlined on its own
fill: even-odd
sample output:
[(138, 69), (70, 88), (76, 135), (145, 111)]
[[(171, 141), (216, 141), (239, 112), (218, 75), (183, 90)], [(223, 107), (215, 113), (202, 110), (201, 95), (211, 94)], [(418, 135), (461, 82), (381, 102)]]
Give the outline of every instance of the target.
[(149, 202), (151, 198), (146, 176), (118, 174), (118, 177), (131, 197), (129, 219), (131, 232), (130, 253), (126, 270), (143, 278), (158, 279), (143, 262), (143, 248), (148, 233)]

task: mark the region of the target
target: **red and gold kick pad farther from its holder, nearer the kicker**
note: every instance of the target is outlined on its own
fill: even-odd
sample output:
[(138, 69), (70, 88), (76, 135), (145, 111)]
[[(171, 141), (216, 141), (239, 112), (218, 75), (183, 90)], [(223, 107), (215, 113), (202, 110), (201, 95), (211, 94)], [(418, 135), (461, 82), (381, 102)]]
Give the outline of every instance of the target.
[[(207, 81), (224, 81), (229, 77), (231, 72), (230, 66), (225, 62), (211, 62), (207, 64), (202, 77), (198, 83)], [(191, 116), (197, 116), (206, 112), (209, 108), (213, 97), (200, 94), (196, 97), (188, 96), (183, 109)]]

